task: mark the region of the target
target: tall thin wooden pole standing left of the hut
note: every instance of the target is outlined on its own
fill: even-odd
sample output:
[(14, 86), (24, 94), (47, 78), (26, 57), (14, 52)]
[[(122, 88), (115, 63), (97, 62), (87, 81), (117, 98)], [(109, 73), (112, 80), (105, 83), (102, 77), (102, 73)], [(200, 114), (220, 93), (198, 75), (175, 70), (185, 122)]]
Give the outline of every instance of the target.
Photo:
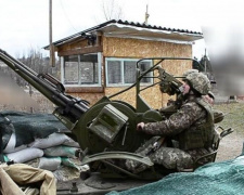
[(50, 66), (55, 66), (54, 48), (52, 44), (52, 0), (49, 0), (49, 50), (50, 50)]

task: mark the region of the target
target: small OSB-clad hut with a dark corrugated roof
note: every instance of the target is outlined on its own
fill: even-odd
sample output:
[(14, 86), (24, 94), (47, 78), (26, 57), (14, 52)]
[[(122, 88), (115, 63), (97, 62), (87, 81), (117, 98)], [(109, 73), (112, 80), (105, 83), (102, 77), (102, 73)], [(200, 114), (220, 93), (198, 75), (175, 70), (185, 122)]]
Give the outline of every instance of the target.
[[(203, 35), (196, 31), (113, 20), (53, 44), (61, 57), (60, 79), (66, 92), (94, 104), (102, 96), (108, 96), (134, 82), (138, 60), (192, 57), (192, 44), (202, 38)], [(44, 49), (49, 50), (49, 46)], [(152, 65), (152, 61), (144, 61), (141, 69)], [(192, 68), (192, 62), (167, 62), (164, 68), (170, 74), (181, 75)], [(155, 79), (149, 78), (143, 84), (153, 82)], [(145, 101), (155, 108), (165, 105), (168, 100), (168, 95), (162, 95), (158, 86), (143, 93)], [(134, 90), (116, 99), (134, 105)]]

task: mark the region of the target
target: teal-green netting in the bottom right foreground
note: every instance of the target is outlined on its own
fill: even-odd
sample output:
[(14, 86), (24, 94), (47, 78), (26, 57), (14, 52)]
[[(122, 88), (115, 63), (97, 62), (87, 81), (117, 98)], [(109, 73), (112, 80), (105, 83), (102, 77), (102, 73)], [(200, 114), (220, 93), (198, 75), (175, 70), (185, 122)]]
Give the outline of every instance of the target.
[(208, 164), (195, 172), (174, 173), (147, 185), (108, 195), (243, 195), (244, 156)]

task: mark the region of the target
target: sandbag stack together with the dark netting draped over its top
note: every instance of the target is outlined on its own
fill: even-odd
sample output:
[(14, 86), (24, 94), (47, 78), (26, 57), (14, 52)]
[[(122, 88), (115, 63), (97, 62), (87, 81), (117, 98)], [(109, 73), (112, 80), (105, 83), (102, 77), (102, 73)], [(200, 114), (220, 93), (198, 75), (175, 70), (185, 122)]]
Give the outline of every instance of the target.
[(50, 171), (62, 167), (84, 169), (75, 156), (79, 144), (67, 135), (68, 130), (53, 115), (1, 113), (0, 128), (5, 160)]

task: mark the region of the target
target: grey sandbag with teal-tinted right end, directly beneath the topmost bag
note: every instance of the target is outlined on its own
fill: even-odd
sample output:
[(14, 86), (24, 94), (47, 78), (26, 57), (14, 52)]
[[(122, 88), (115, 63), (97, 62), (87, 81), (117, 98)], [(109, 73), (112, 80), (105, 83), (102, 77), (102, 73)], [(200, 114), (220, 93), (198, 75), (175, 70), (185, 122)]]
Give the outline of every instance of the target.
[(65, 156), (65, 157), (70, 157), (70, 158), (76, 158), (75, 153), (79, 148), (77, 147), (69, 147), (65, 145), (59, 145), (59, 146), (53, 146), (43, 150), (46, 156)]

